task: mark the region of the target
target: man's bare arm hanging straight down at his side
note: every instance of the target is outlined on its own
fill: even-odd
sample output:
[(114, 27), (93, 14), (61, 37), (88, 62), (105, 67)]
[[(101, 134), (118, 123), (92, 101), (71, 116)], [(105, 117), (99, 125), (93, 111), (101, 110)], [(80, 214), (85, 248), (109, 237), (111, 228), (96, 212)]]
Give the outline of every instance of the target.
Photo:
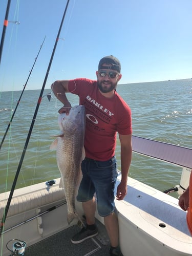
[(127, 193), (127, 178), (132, 161), (132, 134), (119, 134), (121, 144), (121, 182), (117, 187), (117, 200), (122, 200)]

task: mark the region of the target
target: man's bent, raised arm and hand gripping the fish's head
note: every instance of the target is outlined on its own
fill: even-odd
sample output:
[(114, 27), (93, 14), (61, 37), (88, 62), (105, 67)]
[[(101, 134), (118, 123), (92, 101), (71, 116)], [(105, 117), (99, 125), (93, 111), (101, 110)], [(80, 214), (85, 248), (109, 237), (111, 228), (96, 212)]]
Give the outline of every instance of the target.
[(66, 97), (66, 93), (69, 92), (69, 80), (57, 80), (51, 84), (51, 90), (60, 102), (63, 103), (59, 113), (65, 113), (68, 115), (71, 109), (71, 104)]

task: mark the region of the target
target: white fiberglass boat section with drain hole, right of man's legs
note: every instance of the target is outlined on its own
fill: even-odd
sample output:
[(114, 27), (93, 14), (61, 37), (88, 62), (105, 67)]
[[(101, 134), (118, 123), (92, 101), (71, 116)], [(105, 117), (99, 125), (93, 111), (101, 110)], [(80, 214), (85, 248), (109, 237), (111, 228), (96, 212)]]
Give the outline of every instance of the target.
[(186, 212), (178, 199), (129, 178), (128, 193), (116, 201), (123, 255), (191, 255)]

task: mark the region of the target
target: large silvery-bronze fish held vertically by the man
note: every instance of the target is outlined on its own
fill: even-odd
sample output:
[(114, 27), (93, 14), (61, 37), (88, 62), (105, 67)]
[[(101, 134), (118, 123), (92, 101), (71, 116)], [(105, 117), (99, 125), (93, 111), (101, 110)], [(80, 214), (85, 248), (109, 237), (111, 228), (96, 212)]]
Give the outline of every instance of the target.
[(58, 117), (61, 135), (51, 144), (56, 148), (57, 165), (65, 189), (68, 205), (68, 223), (79, 218), (75, 209), (75, 198), (82, 178), (81, 162), (84, 153), (84, 131), (86, 127), (86, 112), (83, 105), (71, 108), (69, 115), (62, 113)]

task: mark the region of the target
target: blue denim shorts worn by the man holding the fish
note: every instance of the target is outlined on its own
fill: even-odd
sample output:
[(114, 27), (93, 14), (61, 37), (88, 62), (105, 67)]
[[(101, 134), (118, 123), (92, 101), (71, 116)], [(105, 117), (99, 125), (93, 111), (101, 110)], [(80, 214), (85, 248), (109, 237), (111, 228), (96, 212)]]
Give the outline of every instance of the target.
[(115, 182), (117, 179), (117, 161), (115, 156), (108, 161), (96, 161), (86, 158), (81, 163), (82, 181), (77, 201), (86, 202), (96, 193), (97, 209), (100, 216), (110, 215), (115, 210)]

